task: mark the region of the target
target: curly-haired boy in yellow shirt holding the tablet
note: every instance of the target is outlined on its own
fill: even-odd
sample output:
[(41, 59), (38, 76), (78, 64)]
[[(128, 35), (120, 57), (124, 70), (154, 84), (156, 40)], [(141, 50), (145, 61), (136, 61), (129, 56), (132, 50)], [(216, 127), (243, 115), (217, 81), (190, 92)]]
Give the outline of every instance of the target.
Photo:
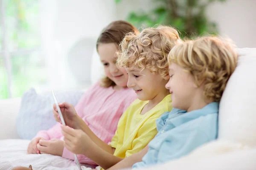
[[(169, 80), (167, 56), (180, 41), (178, 32), (166, 26), (125, 36), (117, 64), (126, 69), (127, 86), (133, 88), (138, 99), (123, 113), (110, 145), (102, 142), (81, 121), (80, 130), (61, 127), (64, 146), (73, 153), (87, 156), (104, 169), (147, 146), (157, 134), (156, 119), (172, 110), (171, 94), (165, 88)], [(65, 109), (73, 110), (71, 105)]]

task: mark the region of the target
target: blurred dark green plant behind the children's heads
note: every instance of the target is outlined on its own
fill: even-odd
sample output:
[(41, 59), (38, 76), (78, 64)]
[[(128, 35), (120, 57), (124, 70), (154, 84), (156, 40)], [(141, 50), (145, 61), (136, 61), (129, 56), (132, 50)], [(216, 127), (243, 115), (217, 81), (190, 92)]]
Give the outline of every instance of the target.
[[(115, 0), (120, 3), (122, 0)], [(131, 11), (127, 20), (140, 28), (156, 24), (172, 26), (180, 37), (193, 38), (204, 34), (217, 34), (217, 25), (206, 16), (207, 6), (226, 0), (154, 0), (156, 7), (149, 12)], [(159, 5), (158, 5), (159, 4)]]

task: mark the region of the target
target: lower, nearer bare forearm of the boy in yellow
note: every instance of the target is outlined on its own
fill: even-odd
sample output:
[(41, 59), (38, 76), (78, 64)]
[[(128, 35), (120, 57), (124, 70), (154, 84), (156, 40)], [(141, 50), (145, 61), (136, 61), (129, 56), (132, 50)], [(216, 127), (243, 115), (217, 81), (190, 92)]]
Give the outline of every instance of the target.
[(113, 156), (113, 154), (106, 152), (95, 143), (90, 146), (90, 150), (84, 152), (84, 155), (95, 161), (96, 164), (101, 166), (103, 169), (108, 169), (123, 160), (122, 158)]

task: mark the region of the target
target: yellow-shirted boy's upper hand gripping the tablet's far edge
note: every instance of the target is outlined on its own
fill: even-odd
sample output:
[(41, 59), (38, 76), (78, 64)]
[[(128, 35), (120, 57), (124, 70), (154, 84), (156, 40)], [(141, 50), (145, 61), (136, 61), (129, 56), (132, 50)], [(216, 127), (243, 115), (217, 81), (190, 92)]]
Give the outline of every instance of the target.
[[(65, 121), (66, 125), (69, 126), (69, 127), (75, 128), (76, 123), (77, 123), (76, 117), (78, 115), (76, 114), (76, 110), (75, 110), (74, 106), (67, 103), (67, 102), (63, 102), (63, 103), (59, 103), (59, 107), (61, 109), (61, 113), (63, 115), (63, 118), (64, 118), (64, 121)], [(57, 111), (57, 108), (56, 108), (55, 104), (53, 105), (52, 113), (54, 115), (55, 120), (57, 122), (61, 123), (61, 119), (58, 115), (58, 111)]]

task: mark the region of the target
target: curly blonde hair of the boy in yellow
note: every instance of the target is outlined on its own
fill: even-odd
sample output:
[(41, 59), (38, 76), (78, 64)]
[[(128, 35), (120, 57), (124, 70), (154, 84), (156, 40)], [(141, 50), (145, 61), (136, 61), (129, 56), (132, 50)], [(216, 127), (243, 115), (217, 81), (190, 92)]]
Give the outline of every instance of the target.
[(117, 65), (126, 68), (138, 65), (165, 77), (168, 75), (167, 56), (180, 41), (176, 29), (168, 26), (146, 28), (138, 35), (130, 33), (120, 44)]

